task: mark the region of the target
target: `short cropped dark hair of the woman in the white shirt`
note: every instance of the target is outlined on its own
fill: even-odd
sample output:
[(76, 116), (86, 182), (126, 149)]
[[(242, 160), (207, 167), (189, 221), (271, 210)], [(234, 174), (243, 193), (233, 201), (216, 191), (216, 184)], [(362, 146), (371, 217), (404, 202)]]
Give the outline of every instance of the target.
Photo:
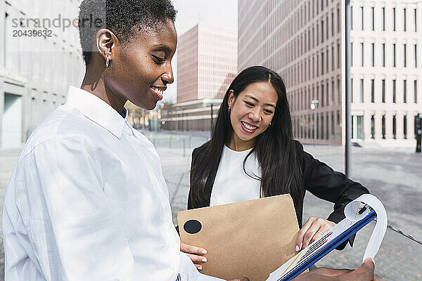
[(135, 32), (157, 31), (162, 23), (176, 19), (171, 0), (83, 0), (79, 6), (79, 38), (82, 57), (89, 65), (98, 30), (106, 28), (122, 42)]

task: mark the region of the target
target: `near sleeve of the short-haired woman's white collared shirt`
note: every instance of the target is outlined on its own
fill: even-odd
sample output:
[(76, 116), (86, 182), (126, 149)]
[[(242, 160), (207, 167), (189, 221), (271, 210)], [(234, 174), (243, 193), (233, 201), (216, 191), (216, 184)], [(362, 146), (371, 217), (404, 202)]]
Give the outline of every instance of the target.
[(23, 157), (4, 200), (6, 280), (127, 280), (134, 259), (101, 181), (83, 137)]

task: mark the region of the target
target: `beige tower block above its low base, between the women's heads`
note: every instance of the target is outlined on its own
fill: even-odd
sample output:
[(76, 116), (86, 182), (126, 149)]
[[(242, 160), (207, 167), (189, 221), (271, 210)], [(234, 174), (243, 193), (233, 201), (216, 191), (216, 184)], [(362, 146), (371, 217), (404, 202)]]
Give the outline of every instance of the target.
[(237, 72), (237, 31), (199, 23), (179, 37), (177, 103), (222, 98)]

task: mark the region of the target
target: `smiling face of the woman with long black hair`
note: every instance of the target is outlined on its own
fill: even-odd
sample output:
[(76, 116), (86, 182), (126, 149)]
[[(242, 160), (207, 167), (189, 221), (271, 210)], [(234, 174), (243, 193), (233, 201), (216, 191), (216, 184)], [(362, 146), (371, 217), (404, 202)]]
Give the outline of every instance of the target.
[(247, 150), (255, 146), (255, 138), (267, 130), (276, 110), (278, 96), (269, 82), (248, 85), (237, 98), (231, 91), (228, 99), (233, 127), (229, 148)]

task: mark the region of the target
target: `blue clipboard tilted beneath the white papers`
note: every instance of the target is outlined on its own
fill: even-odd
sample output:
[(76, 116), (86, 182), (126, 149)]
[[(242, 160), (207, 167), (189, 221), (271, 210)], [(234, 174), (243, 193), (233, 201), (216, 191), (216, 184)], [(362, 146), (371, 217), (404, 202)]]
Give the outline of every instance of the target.
[(295, 277), (298, 277), (300, 273), (307, 270), (309, 267), (311, 267), (314, 263), (319, 261), (320, 259), (324, 258), (326, 254), (333, 251), (333, 249), (337, 248), (341, 244), (343, 244), (345, 241), (347, 241), (350, 236), (356, 234), (361, 228), (366, 226), (368, 223), (370, 223), (374, 218), (376, 218), (376, 212), (371, 210), (371, 212), (366, 215), (362, 220), (358, 221), (357, 223), (354, 223), (353, 226), (350, 226), (350, 228), (347, 228), (345, 232), (343, 232), (341, 235), (338, 235), (338, 237), (335, 237), (331, 242), (326, 244), (322, 249), (320, 249), (314, 256), (303, 263), (302, 265), (298, 266), (298, 268), (295, 268), (292, 272), (288, 273), (287, 275), (279, 278), (278, 281), (288, 281), (292, 280)]

